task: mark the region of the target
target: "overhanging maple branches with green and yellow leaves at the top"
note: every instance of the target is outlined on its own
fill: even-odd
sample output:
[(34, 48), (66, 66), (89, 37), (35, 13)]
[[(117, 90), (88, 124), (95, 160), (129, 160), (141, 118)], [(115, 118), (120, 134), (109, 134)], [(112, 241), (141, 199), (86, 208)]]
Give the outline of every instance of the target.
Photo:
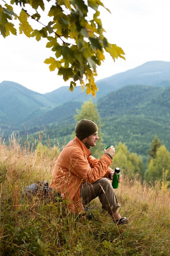
[[(104, 61), (104, 51), (114, 61), (124, 58), (124, 51), (104, 36), (99, 7), (104, 7), (100, 0), (87, 0), (87, 4), (84, 0), (11, 0), (10, 4), (0, 0), (0, 33), (4, 38), (10, 33), (17, 35), (19, 23), (20, 34), (37, 41), (46, 38), (46, 47), (55, 57), (44, 63), (49, 64), (51, 71), (57, 69), (64, 81), (71, 79), (69, 90), (73, 91), (79, 81), (82, 90), (86, 87), (86, 94), (95, 97), (94, 76), (97, 65)], [(93, 17), (89, 18), (92, 12)], [(42, 21), (43, 16), (46, 22)]]

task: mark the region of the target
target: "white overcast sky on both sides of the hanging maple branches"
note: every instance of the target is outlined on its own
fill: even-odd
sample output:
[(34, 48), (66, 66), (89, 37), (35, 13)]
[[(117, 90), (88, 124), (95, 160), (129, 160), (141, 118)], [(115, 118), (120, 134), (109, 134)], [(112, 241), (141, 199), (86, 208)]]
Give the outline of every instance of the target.
[[(170, 0), (103, 0), (111, 14), (101, 9), (106, 37), (120, 46), (126, 61), (106, 55), (96, 81), (132, 69), (147, 61), (170, 61)], [(51, 92), (68, 85), (49, 71), (44, 60), (52, 56), (45, 40), (24, 35), (0, 36), (0, 83), (20, 83), (33, 91)]]

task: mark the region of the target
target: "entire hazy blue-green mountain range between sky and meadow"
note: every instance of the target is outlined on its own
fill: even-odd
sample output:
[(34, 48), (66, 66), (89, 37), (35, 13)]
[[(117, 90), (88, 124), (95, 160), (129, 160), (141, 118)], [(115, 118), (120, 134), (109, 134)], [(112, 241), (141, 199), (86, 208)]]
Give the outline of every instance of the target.
[[(97, 81), (97, 97), (86, 95), (78, 86), (67, 86), (46, 94), (4, 81), (0, 83), (0, 128), (3, 137), (13, 130), (46, 132), (59, 141), (69, 139), (73, 115), (92, 98), (102, 118), (104, 143), (122, 141), (132, 152), (146, 155), (157, 134), (170, 147), (170, 62), (150, 61), (134, 69)], [(170, 149), (170, 148), (169, 148)]]

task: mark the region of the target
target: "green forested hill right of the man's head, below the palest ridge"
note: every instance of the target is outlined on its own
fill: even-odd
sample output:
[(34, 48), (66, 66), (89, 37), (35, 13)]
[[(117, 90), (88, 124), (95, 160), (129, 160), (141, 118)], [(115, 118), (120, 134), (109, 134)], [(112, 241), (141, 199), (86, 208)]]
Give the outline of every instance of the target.
[(170, 87), (126, 86), (97, 102), (104, 141), (146, 155), (155, 135), (170, 150)]

